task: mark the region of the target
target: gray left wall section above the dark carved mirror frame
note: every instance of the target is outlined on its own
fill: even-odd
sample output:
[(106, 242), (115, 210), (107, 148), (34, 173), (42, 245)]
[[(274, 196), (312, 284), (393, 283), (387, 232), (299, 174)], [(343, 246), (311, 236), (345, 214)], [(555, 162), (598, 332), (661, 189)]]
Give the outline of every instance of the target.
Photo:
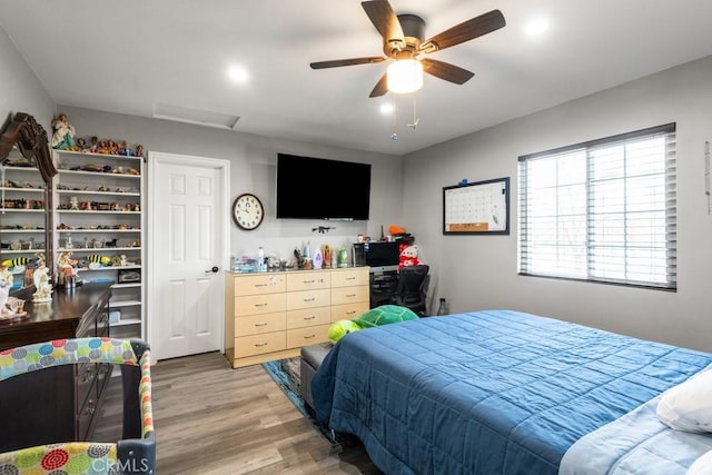
[(33, 116), (51, 139), (55, 102), (0, 28), (0, 127), (17, 112)]

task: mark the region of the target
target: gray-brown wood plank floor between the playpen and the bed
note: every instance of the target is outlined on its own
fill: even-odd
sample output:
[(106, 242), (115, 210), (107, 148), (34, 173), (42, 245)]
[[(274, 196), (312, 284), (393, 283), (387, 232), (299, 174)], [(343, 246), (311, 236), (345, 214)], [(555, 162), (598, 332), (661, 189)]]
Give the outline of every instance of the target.
[[(219, 353), (151, 367), (157, 473), (380, 474), (363, 446), (333, 447), (261, 365)], [(109, 383), (95, 441), (121, 435), (121, 378)]]

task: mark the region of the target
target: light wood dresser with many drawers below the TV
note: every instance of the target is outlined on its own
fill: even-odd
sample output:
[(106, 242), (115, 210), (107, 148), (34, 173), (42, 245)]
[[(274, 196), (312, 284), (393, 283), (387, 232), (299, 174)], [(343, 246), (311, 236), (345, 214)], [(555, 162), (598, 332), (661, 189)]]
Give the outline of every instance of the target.
[(298, 356), (328, 339), (332, 321), (368, 310), (368, 267), (228, 273), (225, 283), (225, 353), (234, 368)]

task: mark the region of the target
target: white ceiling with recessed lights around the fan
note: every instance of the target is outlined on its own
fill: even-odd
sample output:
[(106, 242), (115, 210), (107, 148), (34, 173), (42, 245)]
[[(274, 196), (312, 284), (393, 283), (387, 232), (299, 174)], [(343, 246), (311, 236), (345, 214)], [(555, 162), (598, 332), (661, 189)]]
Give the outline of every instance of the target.
[[(394, 155), (712, 55), (710, 0), (390, 4), (424, 18), (426, 38), (495, 8), (507, 26), (431, 55), (475, 77), (456, 86), (426, 76), (415, 101), (368, 98), (388, 62), (309, 68), (382, 53), (355, 0), (2, 0), (0, 26), (58, 105), (239, 116), (237, 131)], [(550, 28), (527, 37), (536, 18)], [(227, 78), (236, 65), (248, 70), (243, 85)], [(396, 105), (395, 120), (384, 103)]]

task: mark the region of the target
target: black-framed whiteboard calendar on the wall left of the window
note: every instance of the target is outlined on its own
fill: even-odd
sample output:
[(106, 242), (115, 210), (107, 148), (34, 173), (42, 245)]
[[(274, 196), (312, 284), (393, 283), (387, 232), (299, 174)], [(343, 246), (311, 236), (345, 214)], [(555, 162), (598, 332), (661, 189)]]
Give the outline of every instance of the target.
[(508, 235), (510, 178), (443, 188), (444, 235)]

